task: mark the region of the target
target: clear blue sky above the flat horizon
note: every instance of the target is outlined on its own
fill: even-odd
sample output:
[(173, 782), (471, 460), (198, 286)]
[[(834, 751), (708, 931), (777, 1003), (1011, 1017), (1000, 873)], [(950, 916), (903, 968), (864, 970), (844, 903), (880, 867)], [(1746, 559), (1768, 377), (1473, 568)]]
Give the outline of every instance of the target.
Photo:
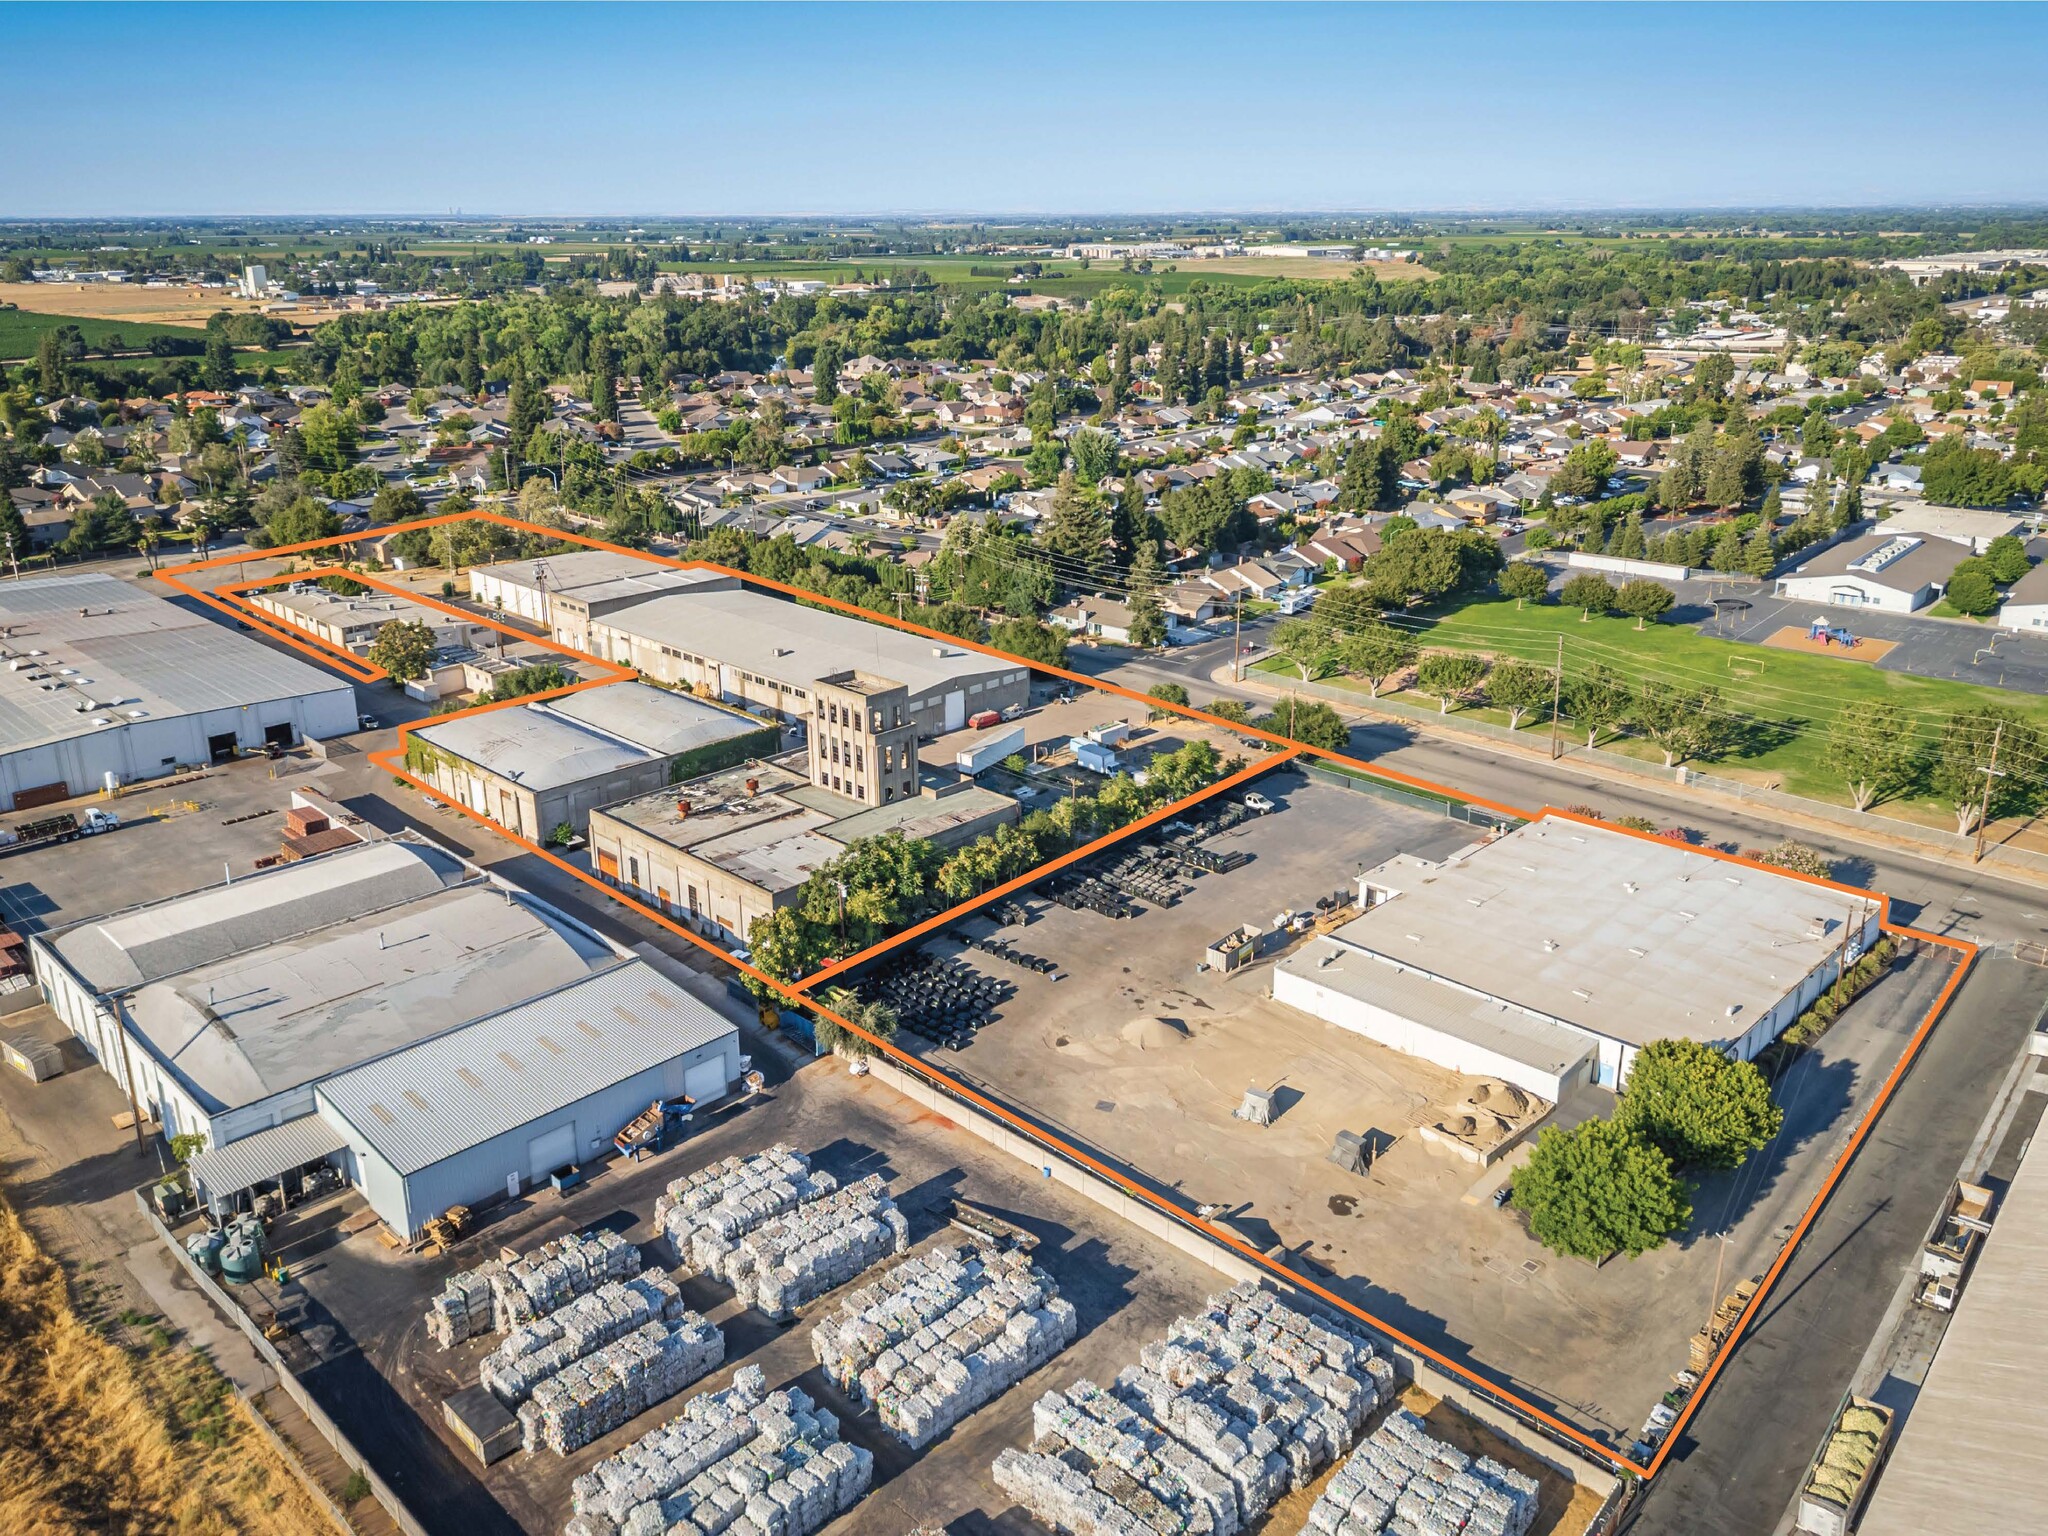
[(2048, 201), (2044, 6), (0, 6), (0, 219)]

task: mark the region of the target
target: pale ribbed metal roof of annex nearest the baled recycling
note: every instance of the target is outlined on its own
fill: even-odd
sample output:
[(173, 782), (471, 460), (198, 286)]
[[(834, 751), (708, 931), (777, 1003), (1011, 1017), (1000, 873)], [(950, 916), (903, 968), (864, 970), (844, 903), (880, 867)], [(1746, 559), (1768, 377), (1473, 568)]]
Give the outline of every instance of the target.
[(733, 1026), (645, 961), (330, 1077), (319, 1102), (399, 1174), (528, 1124)]

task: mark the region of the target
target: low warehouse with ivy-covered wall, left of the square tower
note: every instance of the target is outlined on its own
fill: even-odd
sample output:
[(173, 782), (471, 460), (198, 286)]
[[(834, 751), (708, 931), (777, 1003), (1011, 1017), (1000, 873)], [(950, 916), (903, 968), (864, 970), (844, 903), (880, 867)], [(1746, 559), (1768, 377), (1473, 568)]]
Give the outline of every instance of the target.
[(543, 842), (561, 825), (582, 834), (596, 805), (770, 758), (780, 745), (782, 727), (772, 721), (621, 682), (422, 725), (406, 739), (406, 766), (449, 799)]

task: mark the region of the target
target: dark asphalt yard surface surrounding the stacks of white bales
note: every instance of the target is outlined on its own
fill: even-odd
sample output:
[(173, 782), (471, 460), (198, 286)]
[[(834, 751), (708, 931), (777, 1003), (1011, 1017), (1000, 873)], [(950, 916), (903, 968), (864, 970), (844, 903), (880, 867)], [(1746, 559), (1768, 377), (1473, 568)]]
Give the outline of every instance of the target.
[[(768, 1055), (758, 1055), (768, 1063)], [(1004, 1446), (1030, 1440), (1030, 1405), (1053, 1384), (1112, 1378), (1143, 1343), (1229, 1282), (1178, 1249), (1118, 1223), (1098, 1206), (1034, 1178), (1030, 1167), (913, 1106), (879, 1079), (850, 1077), (817, 1061), (795, 1075), (772, 1071), (760, 1100), (717, 1116), (682, 1147), (643, 1165), (606, 1165), (584, 1190), (532, 1196), (496, 1212), (453, 1255), (399, 1257), (369, 1233), (344, 1235), (360, 1206), (336, 1196), (281, 1227), (281, 1253), (311, 1298), (311, 1323), (293, 1339), (293, 1366), (322, 1405), (408, 1499), (430, 1530), (465, 1536), (555, 1536), (569, 1516), (569, 1483), (596, 1460), (674, 1417), (690, 1395), (715, 1391), (741, 1364), (760, 1364), (770, 1386), (799, 1384), (842, 1417), (842, 1434), (877, 1458), (874, 1491), (827, 1530), (834, 1536), (903, 1536), (918, 1526), (954, 1530), (1036, 1530), (989, 1479)], [(514, 1452), (481, 1468), (440, 1421), (440, 1401), (475, 1382), (489, 1341), (440, 1352), (424, 1313), (446, 1274), (494, 1255), (528, 1249), (563, 1231), (606, 1225), (647, 1243), (655, 1196), (682, 1174), (733, 1153), (786, 1141), (834, 1174), (883, 1174), (911, 1225), (913, 1243), (946, 1231), (950, 1202), (969, 1198), (1038, 1237), (1051, 1270), (1081, 1319), (1079, 1339), (1049, 1366), (956, 1425), (924, 1452), (907, 1452), (872, 1415), (858, 1413), (815, 1366), (809, 1327), (776, 1325), (735, 1307), (717, 1282), (684, 1286), (690, 1305), (725, 1329), (725, 1366), (684, 1395), (649, 1409), (573, 1456)], [(662, 1264), (657, 1249), (647, 1253)], [(819, 1317), (836, 1303), (805, 1309)]]

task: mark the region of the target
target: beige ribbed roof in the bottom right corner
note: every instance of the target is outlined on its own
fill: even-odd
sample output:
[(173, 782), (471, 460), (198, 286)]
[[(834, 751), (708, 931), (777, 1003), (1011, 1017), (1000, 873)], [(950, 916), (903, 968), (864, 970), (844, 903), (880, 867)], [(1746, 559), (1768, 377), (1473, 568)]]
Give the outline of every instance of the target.
[(1862, 1536), (2040, 1530), (2048, 1507), (2048, 1137), (2034, 1137), (1898, 1432)]

